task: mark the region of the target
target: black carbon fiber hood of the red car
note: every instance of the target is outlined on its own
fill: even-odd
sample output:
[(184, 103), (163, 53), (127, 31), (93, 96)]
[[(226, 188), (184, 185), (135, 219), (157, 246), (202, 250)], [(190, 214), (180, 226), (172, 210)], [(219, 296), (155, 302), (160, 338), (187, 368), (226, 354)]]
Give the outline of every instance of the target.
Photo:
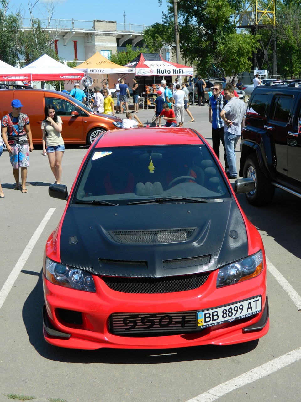
[(244, 258), (248, 240), (240, 210), (230, 199), (118, 207), (73, 204), (63, 220), (60, 254), (62, 264), (97, 275), (165, 277), (212, 271)]

